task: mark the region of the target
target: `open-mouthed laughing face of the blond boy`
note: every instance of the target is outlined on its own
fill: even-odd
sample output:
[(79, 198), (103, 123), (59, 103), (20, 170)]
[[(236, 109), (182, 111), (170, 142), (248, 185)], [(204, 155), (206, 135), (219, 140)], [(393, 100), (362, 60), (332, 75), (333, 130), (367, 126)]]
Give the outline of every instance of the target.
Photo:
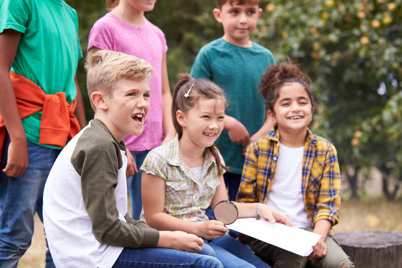
[(122, 79), (113, 96), (104, 96), (107, 109), (102, 120), (116, 140), (126, 135), (138, 136), (150, 109), (149, 79)]

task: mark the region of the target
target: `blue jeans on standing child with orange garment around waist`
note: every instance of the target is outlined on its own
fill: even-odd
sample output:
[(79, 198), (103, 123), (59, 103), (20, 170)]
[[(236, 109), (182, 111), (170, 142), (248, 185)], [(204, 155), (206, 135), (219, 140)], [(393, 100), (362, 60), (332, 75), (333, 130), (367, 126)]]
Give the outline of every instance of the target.
[[(43, 188), (50, 169), (61, 150), (27, 141), (29, 165), (20, 177), (8, 177), (2, 169), (7, 164), (10, 137), (6, 136), (0, 169), (0, 267), (16, 267), (31, 245), (33, 216), (42, 217)], [(52, 263), (49, 250), (46, 262)]]

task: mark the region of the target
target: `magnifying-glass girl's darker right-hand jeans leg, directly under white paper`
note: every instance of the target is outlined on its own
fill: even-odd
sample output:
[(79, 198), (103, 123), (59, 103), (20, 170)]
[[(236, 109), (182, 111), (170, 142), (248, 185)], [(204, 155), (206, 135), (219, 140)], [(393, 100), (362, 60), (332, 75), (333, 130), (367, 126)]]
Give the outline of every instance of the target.
[(221, 238), (214, 239), (212, 243), (218, 245), (219, 247), (222, 247), (227, 252), (230, 252), (234, 256), (237, 256), (238, 258), (245, 260), (246, 262), (254, 265), (255, 267), (271, 268), (271, 266), (269, 266), (267, 263), (263, 262), (260, 258), (255, 256), (255, 254), (252, 253), (250, 249), (248, 249), (248, 247), (246, 247), (243, 243), (241, 243), (240, 241), (234, 239), (229, 235), (224, 235)]

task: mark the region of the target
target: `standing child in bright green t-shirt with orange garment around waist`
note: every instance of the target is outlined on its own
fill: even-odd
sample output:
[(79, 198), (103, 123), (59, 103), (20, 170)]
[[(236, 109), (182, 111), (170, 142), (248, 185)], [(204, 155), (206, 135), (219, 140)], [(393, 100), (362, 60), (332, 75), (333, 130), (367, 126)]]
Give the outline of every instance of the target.
[[(29, 96), (26, 103), (46, 96), (43, 107), (52, 95), (62, 100), (61, 106), (69, 111), (59, 111), (55, 102), (46, 104), (53, 115), (50, 128), (59, 129), (60, 122), (68, 126), (73, 121), (76, 128), (78, 122), (85, 126), (82, 96), (75, 80), (82, 52), (77, 13), (62, 0), (1, 0), (0, 14), (0, 136), (4, 141), (0, 144), (0, 267), (16, 267), (31, 244), (35, 212), (42, 220), (43, 188), (62, 149), (39, 144), (43, 113), (21, 119), (25, 107), (18, 96)], [(19, 80), (31, 81), (31, 86), (17, 89), (14, 74)], [(67, 140), (71, 124), (65, 131)], [(46, 261), (51, 264), (48, 253)]]

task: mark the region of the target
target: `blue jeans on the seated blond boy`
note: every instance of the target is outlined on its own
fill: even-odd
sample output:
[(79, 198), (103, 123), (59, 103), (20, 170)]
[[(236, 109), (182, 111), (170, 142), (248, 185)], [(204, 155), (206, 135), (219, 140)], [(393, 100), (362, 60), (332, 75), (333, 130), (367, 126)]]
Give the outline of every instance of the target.
[(125, 247), (112, 267), (223, 268), (215, 257), (160, 247)]

